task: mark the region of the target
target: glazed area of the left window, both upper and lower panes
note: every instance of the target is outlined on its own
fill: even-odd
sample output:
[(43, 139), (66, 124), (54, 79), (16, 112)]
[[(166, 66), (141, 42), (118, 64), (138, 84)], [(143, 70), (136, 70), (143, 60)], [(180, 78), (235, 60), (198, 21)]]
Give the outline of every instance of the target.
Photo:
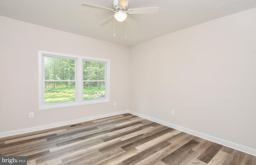
[(44, 104), (76, 102), (77, 59), (43, 55)]

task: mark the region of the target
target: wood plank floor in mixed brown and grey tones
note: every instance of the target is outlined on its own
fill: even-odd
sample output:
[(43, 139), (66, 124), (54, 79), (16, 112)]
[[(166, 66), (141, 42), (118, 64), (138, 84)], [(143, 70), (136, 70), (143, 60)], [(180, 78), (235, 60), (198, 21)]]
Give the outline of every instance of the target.
[(256, 157), (123, 114), (0, 138), (0, 156), (28, 165), (256, 165)]

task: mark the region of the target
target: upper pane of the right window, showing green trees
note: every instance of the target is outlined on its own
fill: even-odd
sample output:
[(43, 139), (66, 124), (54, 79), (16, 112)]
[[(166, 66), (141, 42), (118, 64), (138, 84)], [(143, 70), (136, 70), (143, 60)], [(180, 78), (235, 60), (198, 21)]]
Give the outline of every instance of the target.
[(83, 61), (84, 80), (105, 80), (105, 63)]

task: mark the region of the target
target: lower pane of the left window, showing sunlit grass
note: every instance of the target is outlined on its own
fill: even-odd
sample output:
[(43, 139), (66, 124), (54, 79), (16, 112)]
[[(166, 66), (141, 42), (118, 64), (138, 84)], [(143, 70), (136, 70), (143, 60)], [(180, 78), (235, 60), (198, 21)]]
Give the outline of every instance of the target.
[(44, 104), (75, 102), (75, 82), (45, 82)]

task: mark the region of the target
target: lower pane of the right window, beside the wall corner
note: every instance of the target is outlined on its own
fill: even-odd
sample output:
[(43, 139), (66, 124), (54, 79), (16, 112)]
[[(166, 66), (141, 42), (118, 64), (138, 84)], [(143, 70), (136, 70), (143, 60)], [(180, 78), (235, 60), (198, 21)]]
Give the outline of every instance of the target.
[(105, 98), (105, 82), (84, 82), (84, 100)]

